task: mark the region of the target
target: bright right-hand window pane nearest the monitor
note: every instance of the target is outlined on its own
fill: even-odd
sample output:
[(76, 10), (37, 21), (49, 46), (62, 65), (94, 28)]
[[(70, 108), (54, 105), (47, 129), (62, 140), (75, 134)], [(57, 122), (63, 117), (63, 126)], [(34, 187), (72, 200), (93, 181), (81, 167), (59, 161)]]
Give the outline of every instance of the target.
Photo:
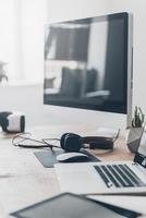
[(44, 24), (46, 0), (21, 0), (21, 35), (23, 80), (42, 82), (44, 77)]

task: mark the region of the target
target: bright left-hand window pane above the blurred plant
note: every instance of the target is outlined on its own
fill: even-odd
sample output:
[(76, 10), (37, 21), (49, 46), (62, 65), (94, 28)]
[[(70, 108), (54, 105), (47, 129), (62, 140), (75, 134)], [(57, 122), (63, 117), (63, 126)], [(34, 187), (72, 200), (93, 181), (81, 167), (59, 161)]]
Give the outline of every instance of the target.
[(16, 78), (16, 26), (14, 0), (0, 0), (0, 61), (7, 62), (5, 71), (10, 80)]

